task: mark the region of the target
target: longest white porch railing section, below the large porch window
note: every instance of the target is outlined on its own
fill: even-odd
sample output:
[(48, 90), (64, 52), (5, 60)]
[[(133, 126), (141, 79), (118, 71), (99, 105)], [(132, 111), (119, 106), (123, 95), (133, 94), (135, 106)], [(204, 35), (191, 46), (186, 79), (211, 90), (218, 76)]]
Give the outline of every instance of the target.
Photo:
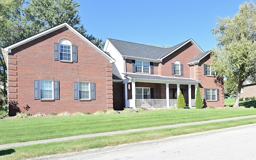
[(166, 99), (136, 99), (136, 108), (140, 107), (166, 107)]

